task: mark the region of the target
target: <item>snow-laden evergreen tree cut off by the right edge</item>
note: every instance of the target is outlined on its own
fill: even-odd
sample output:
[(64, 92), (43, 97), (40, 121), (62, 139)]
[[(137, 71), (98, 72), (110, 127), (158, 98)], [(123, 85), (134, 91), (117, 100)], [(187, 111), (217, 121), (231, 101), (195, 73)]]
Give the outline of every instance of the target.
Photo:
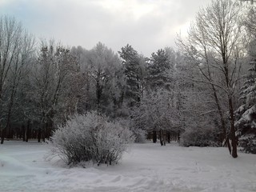
[(252, 38), (248, 46), (250, 56), (249, 73), (241, 88), (242, 105), (236, 111), (235, 126), (237, 128), (239, 145), (248, 153), (256, 154), (256, 12), (254, 6), (246, 14), (244, 25), (248, 36)]

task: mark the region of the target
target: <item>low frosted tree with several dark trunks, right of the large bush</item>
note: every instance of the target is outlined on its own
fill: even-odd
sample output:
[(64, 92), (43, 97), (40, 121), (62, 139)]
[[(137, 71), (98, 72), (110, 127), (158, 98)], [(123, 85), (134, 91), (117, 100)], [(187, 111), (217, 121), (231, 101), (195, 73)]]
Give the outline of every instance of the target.
[(175, 94), (166, 89), (150, 90), (133, 111), (134, 126), (152, 132), (153, 142), (158, 134), (161, 146), (166, 145), (168, 133), (177, 134), (180, 129)]

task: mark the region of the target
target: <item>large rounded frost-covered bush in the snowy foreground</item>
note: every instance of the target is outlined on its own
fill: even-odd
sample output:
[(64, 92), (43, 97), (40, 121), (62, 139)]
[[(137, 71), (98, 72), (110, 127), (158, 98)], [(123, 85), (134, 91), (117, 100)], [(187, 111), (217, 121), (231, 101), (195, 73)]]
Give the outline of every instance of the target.
[(67, 164), (118, 162), (132, 141), (132, 131), (96, 112), (75, 115), (52, 137), (54, 152)]

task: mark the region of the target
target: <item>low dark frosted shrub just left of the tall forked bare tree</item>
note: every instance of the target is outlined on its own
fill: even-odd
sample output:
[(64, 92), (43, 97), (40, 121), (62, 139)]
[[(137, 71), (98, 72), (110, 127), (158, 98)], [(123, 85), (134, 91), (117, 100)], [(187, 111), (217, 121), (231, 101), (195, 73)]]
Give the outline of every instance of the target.
[(181, 135), (182, 146), (218, 146), (212, 128), (187, 128)]

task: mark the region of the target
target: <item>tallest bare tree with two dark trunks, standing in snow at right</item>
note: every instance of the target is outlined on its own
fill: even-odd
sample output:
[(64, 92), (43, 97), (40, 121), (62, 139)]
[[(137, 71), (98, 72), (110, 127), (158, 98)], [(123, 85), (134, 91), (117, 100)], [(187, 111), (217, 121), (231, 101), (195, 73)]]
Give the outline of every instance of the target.
[[(224, 111), (220, 107), (217, 90), (225, 94), (229, 111), (230, 131), (226, 133), (222, 120), (223, 134), (226, 141), (231, 140), (230, 154), (234, 158), (237, 154), (237, 139), (234, 129), (234, 94), (237, 90), (240, 63), (239, 49), (242, 30), (238, 26), (240, 17), (238, 3), (231, 0), (212, 1), (210, 6), (198, 12), (196, 21), (191, 25), (186, 42), (179, 41), (179, 46), (198, 67), (203, 82), (211, 86), (215, 103), (221, 120)], [(213, 74), (218, 73), (218, 78)]]

